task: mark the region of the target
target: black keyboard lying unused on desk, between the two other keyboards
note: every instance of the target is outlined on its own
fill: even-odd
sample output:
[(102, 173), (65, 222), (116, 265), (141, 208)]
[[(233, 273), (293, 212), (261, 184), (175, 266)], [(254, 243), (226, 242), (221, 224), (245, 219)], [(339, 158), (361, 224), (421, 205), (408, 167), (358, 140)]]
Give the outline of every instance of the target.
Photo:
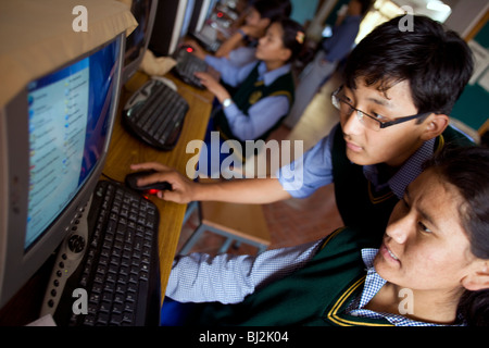
[(150, 79), (126, 103), (123, 123), (143, 142), (170, 151), (178, 141), (188, 109), (176, 90)]

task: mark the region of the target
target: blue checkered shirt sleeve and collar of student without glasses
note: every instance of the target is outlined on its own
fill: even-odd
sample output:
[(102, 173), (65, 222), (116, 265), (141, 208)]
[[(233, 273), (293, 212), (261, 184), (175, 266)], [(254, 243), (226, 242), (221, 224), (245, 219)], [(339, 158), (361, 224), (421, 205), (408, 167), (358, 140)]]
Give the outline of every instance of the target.
[[(259, 256), (191, 253), (177, 257), (168, 278), (166, 296), (180, 302), (238, 303), (255, 289), (303, 268), (318, 251), (323, 240), (291, 248), (267, 250)], [(438, 326), (400, 314), (377, 313), (365, 304), (386, 284), (373, 263), (378, 249), (363, 249), (366, 279), (362, 295), (347, 308), (360, 318), (385, 318), (396, 326)]]

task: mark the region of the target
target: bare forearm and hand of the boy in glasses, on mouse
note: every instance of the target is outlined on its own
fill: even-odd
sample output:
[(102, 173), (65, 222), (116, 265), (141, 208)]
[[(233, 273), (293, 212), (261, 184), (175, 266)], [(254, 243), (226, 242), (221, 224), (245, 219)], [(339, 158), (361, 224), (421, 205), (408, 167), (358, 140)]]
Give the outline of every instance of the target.
[(155, 173), (138, 179), (138, 185), (166, 182), (172, 190), (162, 190), (158, 197), (163, 200), (186, 204), (190, 201), (223, 201), (233, 203), (271, 203), (290, 198), (277, 178), (247, 178), (197, 183), (181, 175), (175, 169), (158, 162), (130, 165), (134, 171), (154, 171)]

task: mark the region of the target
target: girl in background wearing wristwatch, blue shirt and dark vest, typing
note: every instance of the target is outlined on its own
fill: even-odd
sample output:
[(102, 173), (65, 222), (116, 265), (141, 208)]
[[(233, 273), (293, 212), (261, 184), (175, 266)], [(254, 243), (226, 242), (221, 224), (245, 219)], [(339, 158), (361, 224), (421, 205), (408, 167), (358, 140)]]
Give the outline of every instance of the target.
[[(229, 91), (211, 74), (196, 73), (218, 102), (208, 127), (209, 148), (213, 130), (220, 132), (222, 142), (227, 139), (244, 142), (265, 139), (279, 125), (293, 103), (290, 62), (301, 51), (303, 39), (302, 27), (283, 17), (269, 25), (256, 47), (255, 60), (242, 67), (226, 59), (198, 55), (221, 73), (224, 83), (235, 88)], [(237, 156), (239, 159), (242, 154)]]

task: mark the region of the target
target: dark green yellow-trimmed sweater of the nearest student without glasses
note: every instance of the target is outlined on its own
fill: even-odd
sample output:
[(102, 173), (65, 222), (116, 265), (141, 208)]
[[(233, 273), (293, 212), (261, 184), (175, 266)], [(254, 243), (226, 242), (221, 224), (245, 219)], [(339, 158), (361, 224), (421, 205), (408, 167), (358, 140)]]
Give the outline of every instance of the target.
[(258, 289), (237, 304), (208, 303), (198, 325), (385, 326), (384, 319), (346, 313), (366, 276), (361, 249), (378, 248), (381, 234), (341, 228), (328, 236), (302, 269)]

